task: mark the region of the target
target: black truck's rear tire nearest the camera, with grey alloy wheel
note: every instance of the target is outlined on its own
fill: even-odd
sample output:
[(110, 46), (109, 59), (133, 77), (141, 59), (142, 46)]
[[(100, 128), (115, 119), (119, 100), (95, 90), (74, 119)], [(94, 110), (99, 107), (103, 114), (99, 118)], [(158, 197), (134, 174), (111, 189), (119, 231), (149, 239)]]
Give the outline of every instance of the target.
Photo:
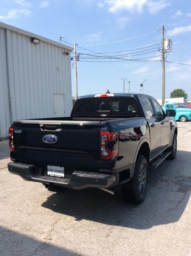
[(146, 197), (147, 181), (148, 162), (144, 156), (139, 155), (136, 160), (133, 178), (121, 186), (124, 199), (134, 204), (142, 203)]

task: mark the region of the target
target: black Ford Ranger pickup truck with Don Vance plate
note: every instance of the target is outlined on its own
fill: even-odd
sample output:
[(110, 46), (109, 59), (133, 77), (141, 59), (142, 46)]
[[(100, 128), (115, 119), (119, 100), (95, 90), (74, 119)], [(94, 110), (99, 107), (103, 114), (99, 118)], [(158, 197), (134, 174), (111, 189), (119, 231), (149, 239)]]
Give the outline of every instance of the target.
[(174, 110), (145, 94), (106, 93), (77, 99), (70, 117), (17, 120), (9, 129), (8, 170), (49, 190), (95, 187), (141, 203), (148, 169), (174, 159)]

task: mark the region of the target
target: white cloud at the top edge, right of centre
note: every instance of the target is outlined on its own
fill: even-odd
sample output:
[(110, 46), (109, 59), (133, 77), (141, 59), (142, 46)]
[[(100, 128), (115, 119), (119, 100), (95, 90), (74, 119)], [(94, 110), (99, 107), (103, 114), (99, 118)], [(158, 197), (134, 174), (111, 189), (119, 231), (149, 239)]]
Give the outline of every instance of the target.
[(151, 14), (156, 14), (159, 10), (169, 6), (167, 0), (106, 0), (109, 7), (109, 12), (118, 12), (122, 10), (142, 12), (146, 6)]

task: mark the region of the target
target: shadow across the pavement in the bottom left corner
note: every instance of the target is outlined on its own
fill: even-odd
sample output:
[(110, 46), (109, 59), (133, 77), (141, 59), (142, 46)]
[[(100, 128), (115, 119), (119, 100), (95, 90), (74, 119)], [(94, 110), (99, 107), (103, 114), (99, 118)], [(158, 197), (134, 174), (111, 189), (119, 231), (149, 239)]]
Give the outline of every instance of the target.
[(65, 250), (48, 244), (46, 242), (38, 241), (29, 236), (19, 234), (12, 230), (2, 228), (0, 226), (0, 249), (1, 256), (26, 256), (26, 255), (46, 255), (46, 256), (81, 256), (75, 252)]

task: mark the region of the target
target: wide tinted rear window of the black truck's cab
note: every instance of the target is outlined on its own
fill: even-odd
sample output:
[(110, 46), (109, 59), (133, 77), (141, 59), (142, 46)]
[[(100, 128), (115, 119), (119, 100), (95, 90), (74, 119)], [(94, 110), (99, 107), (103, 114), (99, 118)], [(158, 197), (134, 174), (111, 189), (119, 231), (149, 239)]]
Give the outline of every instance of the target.
[(82, 98), (77, 101), (73, 114), (137, 115), (138, 108), (133, 97)]

